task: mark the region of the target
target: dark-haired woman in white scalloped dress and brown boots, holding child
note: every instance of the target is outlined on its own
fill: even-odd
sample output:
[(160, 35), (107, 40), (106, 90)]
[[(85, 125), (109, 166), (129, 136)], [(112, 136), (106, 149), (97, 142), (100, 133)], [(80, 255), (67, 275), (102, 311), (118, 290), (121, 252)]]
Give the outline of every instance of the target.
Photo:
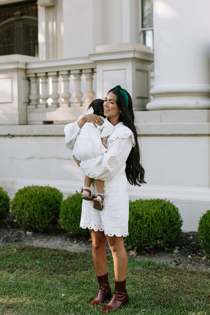
[[(128, 235), (129, 198), (127, 181), (140, 186), (144, 181), (144, 169), (140, 164), (140, 152), (137, 132), (134, 125), (134, 113), (130, 94), (121, 86), (111, 89), (103, 103), (104, 116), (114, 125), (107, 141), (107, 152), (98, 158), (82, 161), (78, 164), (85, 174), (94, 179), (104, 180), (104, 192), (101, 212), (93, 208), (91, 201), (83, 200), (80, 226), (90, 230), (92, 239), (92, 257), (99, 283), (97, 296), (89, 305), (98, 305), (111, 297), (111, 288), (107, 272), (106, 241), (110, 246), (114, 260), (115, 291), (111, 301), (100, 308), (106, 312), (117, 309), (128, 302), (126, 276), (128, 257), (123, 237)], [(95, 123), (94, 115), (83, 116), (77, 122), (77, 132), (86, 121)], [(74, 124), (74, 123), (73, 123)], [(101, 124), (101, 122), (99, 122)], [(66, 134), (66, 143), (74, 141)], [(94, 182), (92, 193), (95, 192)]]

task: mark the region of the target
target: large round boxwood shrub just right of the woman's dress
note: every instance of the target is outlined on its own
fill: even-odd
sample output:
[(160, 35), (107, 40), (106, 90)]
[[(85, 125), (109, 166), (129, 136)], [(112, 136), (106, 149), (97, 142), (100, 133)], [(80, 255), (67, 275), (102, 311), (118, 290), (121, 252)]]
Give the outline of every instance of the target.
[(173, 248), (180, 241), (182, 223), (178, 208), (169, 200), (130, 201), (126, 248)]

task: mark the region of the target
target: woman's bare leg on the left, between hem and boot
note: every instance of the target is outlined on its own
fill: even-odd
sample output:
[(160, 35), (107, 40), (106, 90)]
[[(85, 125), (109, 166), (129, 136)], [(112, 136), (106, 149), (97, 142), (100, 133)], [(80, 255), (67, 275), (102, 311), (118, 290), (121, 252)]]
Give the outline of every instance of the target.
[(106, 236), (103, 231), (90, 230), (92, 240), (92, 258), (96, 276), (107, 274)]

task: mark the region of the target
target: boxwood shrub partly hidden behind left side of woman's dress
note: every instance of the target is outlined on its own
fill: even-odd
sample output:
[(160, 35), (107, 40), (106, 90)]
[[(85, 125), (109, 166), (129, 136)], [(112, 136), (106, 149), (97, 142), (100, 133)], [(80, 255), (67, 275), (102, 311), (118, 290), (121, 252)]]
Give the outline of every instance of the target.
[(60, 222), (61, 227), (67, 231), (71, 236), (89, 235), (88, 229), (82, 229), (80, 225), (80, 217), (82, 211), (82, 198), (81, 195), (76, 192), (75, 194), (67, 197), (61, 203)]

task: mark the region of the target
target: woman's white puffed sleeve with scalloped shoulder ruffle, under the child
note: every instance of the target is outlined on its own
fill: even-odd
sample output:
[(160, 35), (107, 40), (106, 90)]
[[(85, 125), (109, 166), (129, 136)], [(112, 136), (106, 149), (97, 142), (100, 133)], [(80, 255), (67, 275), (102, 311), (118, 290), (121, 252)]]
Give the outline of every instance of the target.
[(80, 163), (80, 168), (88, 177), (109, 180), (122, 167), (125, 169), (128, 155), (132, 146), (135, 145), (132, 131), (127, 127), (125, 128), (127, 129), (126, 132), (116, 134), (114, 131), (108, 138), (106, 153)]

